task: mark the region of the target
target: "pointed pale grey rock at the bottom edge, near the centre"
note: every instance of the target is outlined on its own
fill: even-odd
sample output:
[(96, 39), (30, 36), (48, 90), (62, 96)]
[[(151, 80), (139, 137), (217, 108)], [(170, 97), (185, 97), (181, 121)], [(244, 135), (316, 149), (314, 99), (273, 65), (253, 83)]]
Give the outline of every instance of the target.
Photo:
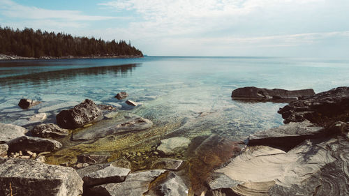
[(177, 196), (188, 195), (189, 189), (184, 181), (173, 172), (165, 172), (149, 186), (144, 195)]

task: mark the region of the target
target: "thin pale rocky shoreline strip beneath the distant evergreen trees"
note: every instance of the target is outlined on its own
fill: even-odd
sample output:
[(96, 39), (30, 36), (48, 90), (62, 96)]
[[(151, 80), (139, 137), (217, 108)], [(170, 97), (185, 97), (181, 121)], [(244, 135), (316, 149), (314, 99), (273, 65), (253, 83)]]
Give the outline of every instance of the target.
[(40, 56), (39, 58), (35, 57), (25, 57), (17, 55), (6, 55), (0, 54), (0, 61), (8, 60), (45, 60), (45, 59), (136, 59), (144, 58), (144, 56), (139, 55), (105, 55), (105, 56)]

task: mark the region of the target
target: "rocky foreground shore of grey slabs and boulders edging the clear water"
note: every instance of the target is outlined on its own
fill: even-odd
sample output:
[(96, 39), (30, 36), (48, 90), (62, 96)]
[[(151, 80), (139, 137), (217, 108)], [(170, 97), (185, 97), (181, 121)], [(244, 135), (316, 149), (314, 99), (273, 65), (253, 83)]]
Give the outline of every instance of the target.
[[(150, 153), (110, 156), (82, 151), (75, 160), (60, 165), (45, 163), (47, 154), (64, 153), (76, 141), (114, 141), (114, 135), (126, 133), (139, 137), (153, 122), (132, 113), (119, 114), (121, 107), (142, 105), (124, 102), (125, 92), (116, 96), (121, 105), (87, 99), (45, 106), (20, 100), (24, 108), (20, 110), (36, 107), (40, 113), (31, 113), (35, 123), (28, 121), (33, 124), (30, 130), (0, 123), (0, 196), (349, 195), (349, 87), (318, 94), (312, 89), (248, 88), (253, 91), (232, 94), (239, 91), (244, 100), (253, 101), (292, 98), (279, 110), (285, 125), (254, 133), (244, 142), (218, 135), (193, 140), (167, 135)], [(52, 110), (58, 111), (54, 112), (57, 124), (41, 123), (47, 118), (43, 114)], [(175, 158), (177, 153), (191, 158)], [(133, 160), (138, 159), (147, 167), (135, 167)]]

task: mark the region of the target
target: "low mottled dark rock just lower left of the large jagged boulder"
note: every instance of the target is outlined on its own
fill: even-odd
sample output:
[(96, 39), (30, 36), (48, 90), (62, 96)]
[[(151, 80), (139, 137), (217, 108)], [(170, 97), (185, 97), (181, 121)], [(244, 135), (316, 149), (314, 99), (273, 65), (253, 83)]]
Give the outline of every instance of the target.
[(36, 137), (64, 137), (68, 135), (68, 130), (60, 128), (53, 123), (40, 124), (31, 130), (31, 134)]

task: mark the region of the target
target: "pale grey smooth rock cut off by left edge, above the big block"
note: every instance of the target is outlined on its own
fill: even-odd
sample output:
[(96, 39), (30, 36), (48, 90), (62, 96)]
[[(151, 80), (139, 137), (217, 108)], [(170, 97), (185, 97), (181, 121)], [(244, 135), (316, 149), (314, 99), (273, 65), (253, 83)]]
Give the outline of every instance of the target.
[(28, 130), (13, 124), (0, 123), (0, 144), (24, 136)]

